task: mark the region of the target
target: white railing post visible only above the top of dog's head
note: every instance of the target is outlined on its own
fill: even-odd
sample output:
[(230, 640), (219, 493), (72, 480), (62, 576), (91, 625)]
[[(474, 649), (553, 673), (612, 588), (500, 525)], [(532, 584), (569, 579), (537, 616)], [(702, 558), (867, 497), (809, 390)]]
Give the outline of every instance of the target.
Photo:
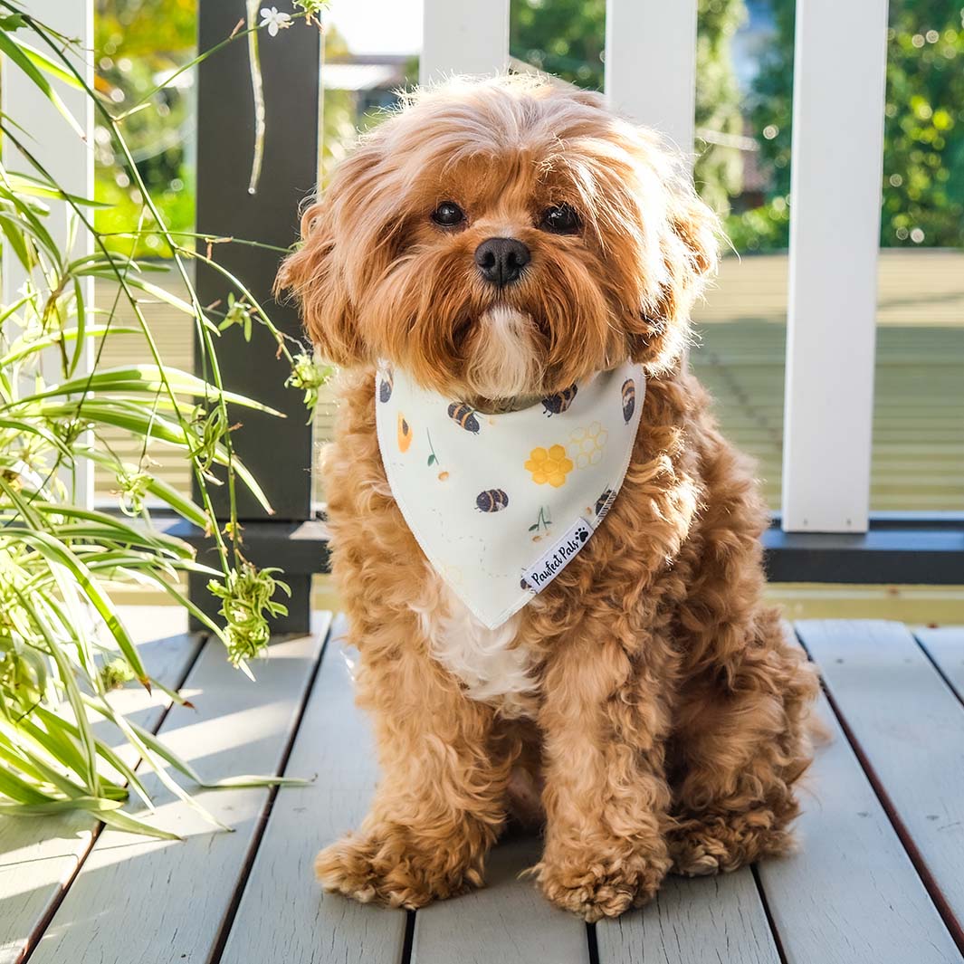
[(419, 83), (488, 74), (509, 60), (509, 0), (424, 0)]

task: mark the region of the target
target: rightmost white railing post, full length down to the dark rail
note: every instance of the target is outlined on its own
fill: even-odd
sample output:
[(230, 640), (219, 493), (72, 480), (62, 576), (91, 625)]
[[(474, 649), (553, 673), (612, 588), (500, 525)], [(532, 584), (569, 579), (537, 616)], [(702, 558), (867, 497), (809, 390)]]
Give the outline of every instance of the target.
[(864, 532), (887, 0), (797, 0), (783, 527)]

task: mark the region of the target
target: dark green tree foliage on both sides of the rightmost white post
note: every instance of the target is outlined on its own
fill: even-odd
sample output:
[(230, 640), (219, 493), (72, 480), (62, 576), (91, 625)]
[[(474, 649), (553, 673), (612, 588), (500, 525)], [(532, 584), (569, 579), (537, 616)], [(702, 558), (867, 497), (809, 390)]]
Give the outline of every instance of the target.
[[(732, 218), (737, 248), (789, 240), (793, 0), (773, 15), (750, 118), (772, 171), (762, 207)], [(964, 244), (964, 11), (959, 0), (892, 0), (887, 34), (882, 247)]]

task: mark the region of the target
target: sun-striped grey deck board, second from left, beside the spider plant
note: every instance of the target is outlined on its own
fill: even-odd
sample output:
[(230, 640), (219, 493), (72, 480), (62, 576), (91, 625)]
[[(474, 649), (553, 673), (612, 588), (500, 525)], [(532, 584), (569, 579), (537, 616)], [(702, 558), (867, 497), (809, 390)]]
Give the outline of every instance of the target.
[[(161, 735), (202, 775), (275, 773), (297, 726), (329, 619), (312, 635), (276, 643), (254, 664), (257, 683), (204, 647), (185, 684), (197, 709), (174, 707)], [(147, 774), (151, 819), (180, 843), (106, 828), (47, 927), (32, 964), (207, 961), (269, 799), (264, 788), (208, 790), (196, 799), (234, 828), (212, 827)]]

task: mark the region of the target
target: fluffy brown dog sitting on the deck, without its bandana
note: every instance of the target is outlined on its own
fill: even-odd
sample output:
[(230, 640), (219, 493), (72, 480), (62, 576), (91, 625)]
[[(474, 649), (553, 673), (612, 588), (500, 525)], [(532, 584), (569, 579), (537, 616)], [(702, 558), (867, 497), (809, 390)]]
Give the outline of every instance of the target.
[[(752, 469), (683, 363), (716, 228), (654, 135), (523, 77), (415, 94), (306, 213), (280, 284), (342, 368), (333, 568), (383, 768), (359, 832), (318, 856), (326, 888), (419, 907), (479, 885), (526, 797), (543, 891), (590, 921), (669, 870), (788, 849), (816, 683), (761, 602)], [(524, 249), (495, 282), (476, 263), (493, 237)], [(491, 411), (627, 359), (648, 388), (620, 494), (561, 575), (485, 629), (392, 498), (375, 362)]]

